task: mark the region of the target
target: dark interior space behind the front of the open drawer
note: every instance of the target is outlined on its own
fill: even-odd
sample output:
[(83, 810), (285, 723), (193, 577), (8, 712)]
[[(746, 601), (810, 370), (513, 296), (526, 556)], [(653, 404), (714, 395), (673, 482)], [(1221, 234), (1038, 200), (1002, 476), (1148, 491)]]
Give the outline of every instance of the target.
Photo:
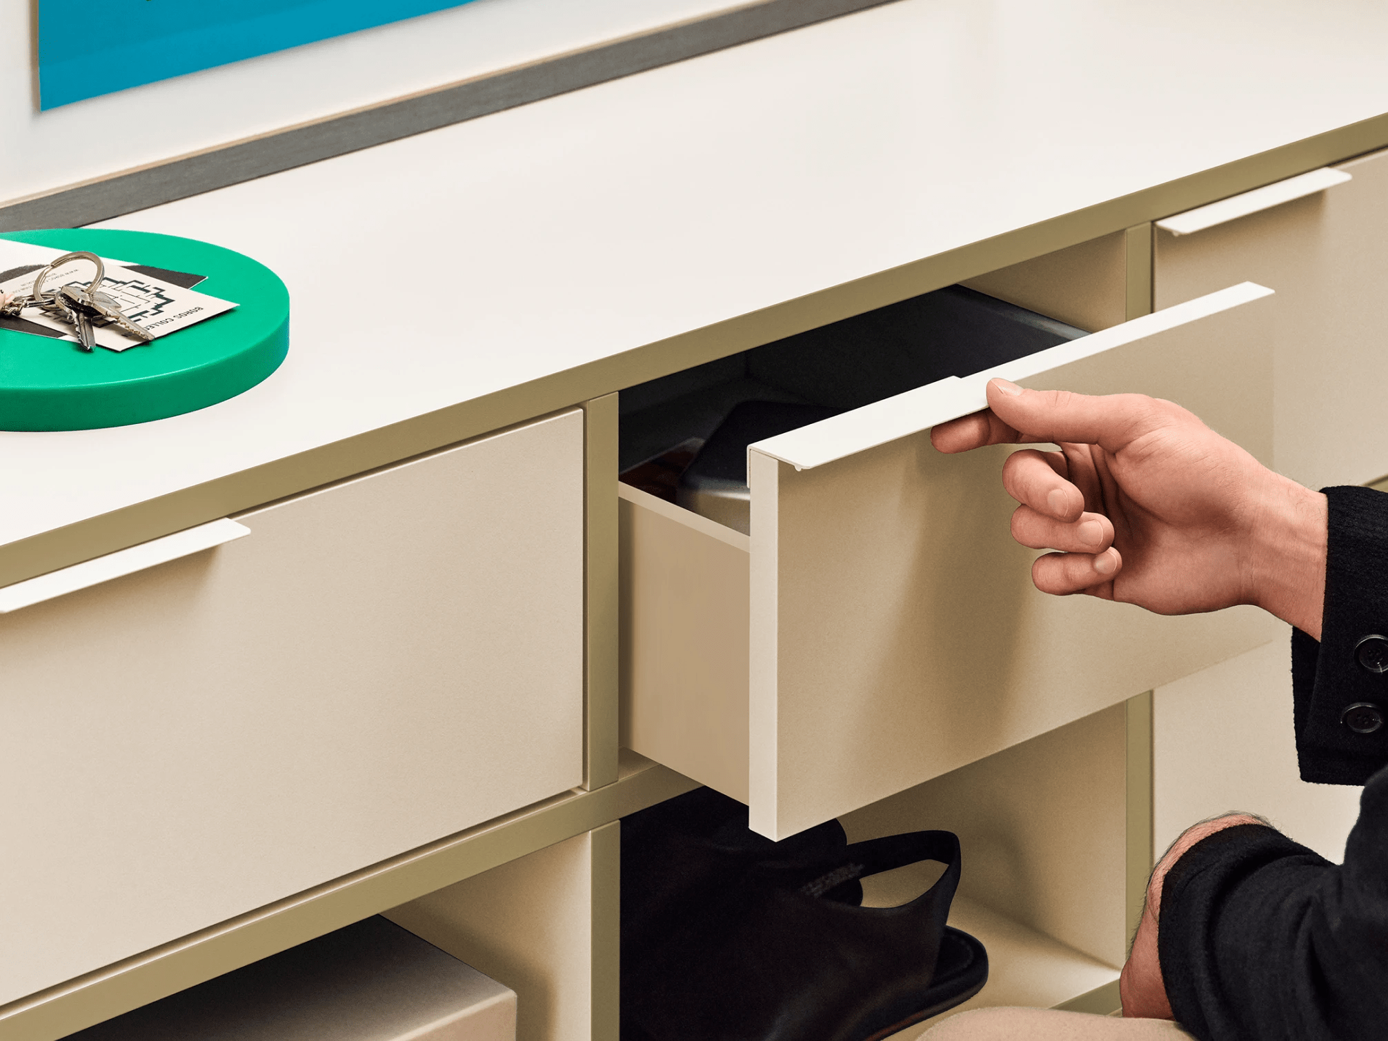
[(965, 286), (912, 297), (623, 390), (623, 479), (661, 494), (745, 401), (848, 411), (1085, 335)]

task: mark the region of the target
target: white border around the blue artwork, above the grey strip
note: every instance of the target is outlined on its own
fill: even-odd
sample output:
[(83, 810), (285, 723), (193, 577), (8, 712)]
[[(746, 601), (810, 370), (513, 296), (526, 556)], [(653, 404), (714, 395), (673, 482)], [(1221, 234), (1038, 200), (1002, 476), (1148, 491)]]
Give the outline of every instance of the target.
[(40, 112), (37, 4), (0, 0), (0, 204), (737, 6), (473, 0)]

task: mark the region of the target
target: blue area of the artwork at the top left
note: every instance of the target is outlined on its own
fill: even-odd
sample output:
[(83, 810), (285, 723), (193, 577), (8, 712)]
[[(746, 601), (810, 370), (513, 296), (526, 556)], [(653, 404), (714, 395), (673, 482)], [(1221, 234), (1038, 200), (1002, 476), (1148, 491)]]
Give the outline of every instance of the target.
[(39, 0), (39, 107), (369, 29), (466, 0)]

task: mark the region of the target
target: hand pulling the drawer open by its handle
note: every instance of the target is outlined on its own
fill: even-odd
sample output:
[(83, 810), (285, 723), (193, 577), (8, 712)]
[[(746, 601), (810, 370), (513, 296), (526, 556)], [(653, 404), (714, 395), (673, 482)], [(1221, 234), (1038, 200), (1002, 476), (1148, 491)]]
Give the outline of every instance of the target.
[(1326, 497), (1273, 473), (1180, 405), (994, 379), (984, 412), (941, 423), (942, 452), (1053, 441), (1008, 457), (1012, 536), (1058, 550), (1033, 564), (1042, 593), (1160, 615), (1256, 604), (1320, 638)]

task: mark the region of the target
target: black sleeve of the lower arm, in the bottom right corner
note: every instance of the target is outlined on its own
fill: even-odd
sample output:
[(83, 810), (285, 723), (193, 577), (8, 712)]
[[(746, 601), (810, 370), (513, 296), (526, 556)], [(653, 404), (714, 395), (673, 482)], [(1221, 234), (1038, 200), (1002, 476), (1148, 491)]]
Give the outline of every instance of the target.
[(1388, 770), (1337, 866), (1262, 824), (1192, 845), (1162, 884), (1158, 955), (1201, 1041), (1388, 1037)]

